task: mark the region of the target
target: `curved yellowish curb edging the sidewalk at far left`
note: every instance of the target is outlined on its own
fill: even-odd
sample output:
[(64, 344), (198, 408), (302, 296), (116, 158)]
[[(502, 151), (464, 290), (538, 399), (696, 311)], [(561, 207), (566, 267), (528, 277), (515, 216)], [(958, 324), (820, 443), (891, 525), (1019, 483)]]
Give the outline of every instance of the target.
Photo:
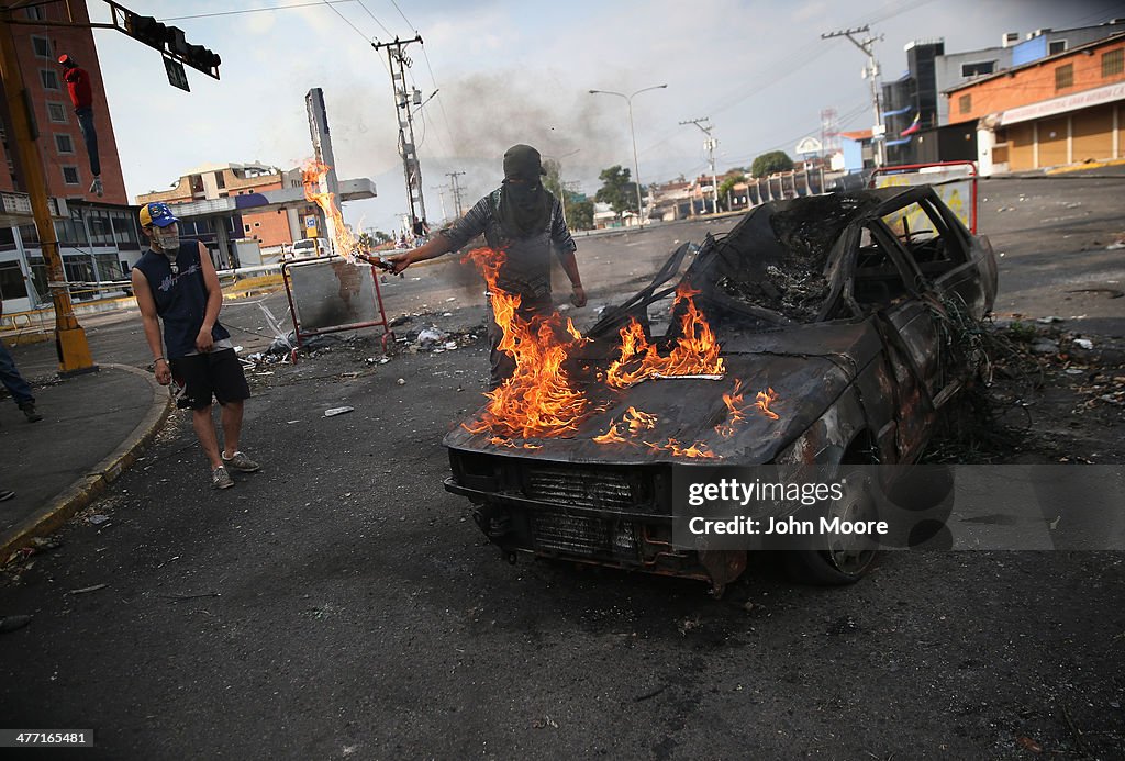
[(109, 456), (91, 468), (89, 473), (74, 481), (54, 500), (14, 526), (10, 534), (0, 536), (0, 567), (7, 563), (14, 552), (26, 546), (33, 536), (50, 534), (92, 502), (94, 497), (125, 472), (126, 468), (136, 462), (137, 453), (152, 441), (168, 419), (172, 410), (171, 397), (152, 373), (125, 364), (105, 363), (101, 366), (144, 375), (152, 388), (152, 405), (148, 411), (125, 442)]

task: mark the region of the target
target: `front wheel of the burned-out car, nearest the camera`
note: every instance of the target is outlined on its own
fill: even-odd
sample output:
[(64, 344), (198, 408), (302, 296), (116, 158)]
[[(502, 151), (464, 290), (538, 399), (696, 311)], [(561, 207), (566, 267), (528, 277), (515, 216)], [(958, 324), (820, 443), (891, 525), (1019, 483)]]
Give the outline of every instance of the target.
[[(874, 520), (878, 514), (871, 489), (871, 474), (848, 470), (843, 475), (844, 495), (827, 508), (829, 519)], [(855, 583), (871, 570), (879, 543), (865, 534), (825, 536), (821, 550), (794, 550), (785, 553), (785, 568), (794, 581), (826, 587)]]

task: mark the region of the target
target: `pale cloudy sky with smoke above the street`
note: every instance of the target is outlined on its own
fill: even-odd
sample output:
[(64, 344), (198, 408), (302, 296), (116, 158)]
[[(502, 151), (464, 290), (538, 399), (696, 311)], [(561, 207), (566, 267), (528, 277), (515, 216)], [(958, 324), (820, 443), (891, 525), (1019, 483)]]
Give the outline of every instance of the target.
[[(305, 93), (324, 90), (336, 171), (375, 180), (378, 198), (345, 205), (349, 223), (392, 230), (407, 209), (396, 151), (386, 53), (410, 45), (414, 84), (439, 94), (415, 125), (428, 216), (438, 185), (459, 178), (471, 205), (502, 179), (501, 157), (530, 143), (561, 158), (585, 192), (613, 164), (632, 166), (627, 103), (592, 89), (644, 92), (633, 103), (644, 183), (706, 169), (703, 134), (681, 121), (709, 117), (717, 164), (819, 135), (834, 108), (842, 129), (872, 124), (864, 56), (821, 33), (871, 25), (883, 78), (906, 71), (903, 46), (942, 38), (947, 53), (997, 46), (1005, 31), (1072, 28), (1125, 17), (1122, 0), (127, 0), (129, 9), (182, 28), (223, 58), (222, 81), (188, 70), (191, 92), (168, 84), (160, 55), (112, 30), (94, 37), (125, 187), (163, 190), (204, 163), (285, 169), (312, 156)], [(89, 0), (91, 18), (108, 6)], [(259, 8), (288, 9), (248, 11)], [(196, 18), (186, 18), (186, 17)], [(160, 134), (160, 141), (154, 135)], [(154, 150), (154, 145), (159, 150)], [(448, 210), (451, 197), (446, 193)]]

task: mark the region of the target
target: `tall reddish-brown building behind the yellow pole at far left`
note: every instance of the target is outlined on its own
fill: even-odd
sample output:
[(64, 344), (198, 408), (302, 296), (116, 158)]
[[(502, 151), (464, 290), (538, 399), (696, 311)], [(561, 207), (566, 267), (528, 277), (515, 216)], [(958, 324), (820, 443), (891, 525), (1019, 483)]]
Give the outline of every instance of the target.
[[(68, 20), (66, 4), (75, 22), (89, 22), (84, 2), (48, 2), (12, 11), (17, 19), (32, 24), (9, 24), (6, 31), (12, 36), (38, 125), (38, 152), (68, 280), (120, 280), (123, 266), (127, 272), (140, 255), (140, 230), (135, 223), (136, 207), (128, 206), (125, 194), (93, 35), (88, 28), (34, 24)], [(58, 56), (64, 53), (90, 75), (104, 185), (101, 198), (89, 192), (90, 161), (58, 65)], [(24, 170), (11, 144), (12, 115), (2, 99), (0, 127), (7, 163), (7, 171), (0, 172), (0, 298), (4, 314), (10, 317), (12, 312), (48, 302), (50, 296)], [(78, 301), (101, 295), (96, 288), (73, 292)]]

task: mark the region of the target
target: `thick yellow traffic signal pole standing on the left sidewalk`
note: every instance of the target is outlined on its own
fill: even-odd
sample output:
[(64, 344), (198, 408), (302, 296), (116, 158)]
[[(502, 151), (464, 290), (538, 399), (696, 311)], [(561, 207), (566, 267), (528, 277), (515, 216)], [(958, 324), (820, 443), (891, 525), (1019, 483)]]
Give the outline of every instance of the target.
[(39, 233), (39, 247), (47, 263), (47, 281), (51, 289), (51, 300), (55, 308), (55, 351), (58, 354), (58, 374), (72, 375), (97, 370), (90, 355), (90, 345), (86, 339), (86, 330), (74, 317), (74, 305), (71, 302), (66, 288), (66, 277), (63, 270), (62, 256), (58, 252), (58, 237), (55, 235), (55, 224), (51, 218), (51, 207), (47, 202), (47, 185), (43, 179), (43, 161), (39, 157), (39, 144), (34, 134), (34, 116), (30, 111), (30, 94), (24, 87), (16, 57), (16, 43), (8, 22), (10, 11), (0, 15), (0, 75), (3, 79), (4, 98), (8, 100), (8, 111), (11, 114), (11, 128), (16, 138), (16, 151), (22, 166), (24, 182), (32, 200), (32, 215)]

